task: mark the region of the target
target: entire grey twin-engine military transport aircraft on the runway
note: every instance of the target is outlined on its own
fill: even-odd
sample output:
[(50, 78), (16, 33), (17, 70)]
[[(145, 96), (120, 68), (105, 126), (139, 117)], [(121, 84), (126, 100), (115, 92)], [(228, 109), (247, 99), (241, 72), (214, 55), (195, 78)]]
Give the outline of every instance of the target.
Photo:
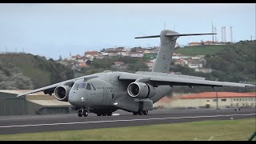
[(54, 85), (31, 90), (25, 94), (43, 91), (44, 94), (55, 94), (59, 101), (70, 102), (79, 117), (93, 112), (98, 116), (110, 116), (121, 109), (134, 115), (148, 114), (153, 110), (153, 103), (170, 93), (173, 86), (253, 86), (234, 82), (208, 81), (202, 77), (182, 74), (168, 74), (174, 46), (180, 36), (204, 34), (179, 34), (173, 30), (162, 30), (160, 35), (138, 38), (159, 38), (160, 50), (152, 72), (138, 71), (135, 74), (106, 70), (80, 78), (58, 82)]

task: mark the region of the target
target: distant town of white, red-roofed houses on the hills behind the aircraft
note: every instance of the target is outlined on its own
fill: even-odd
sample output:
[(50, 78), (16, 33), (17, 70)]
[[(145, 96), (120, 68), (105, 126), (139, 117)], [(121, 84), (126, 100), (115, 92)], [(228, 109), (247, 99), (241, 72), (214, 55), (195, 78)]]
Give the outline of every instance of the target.
[[(190, 46), (201, 46), (201, 45), (226, 45), (226, 42), (190, 42), (186, 48)], [(176, 43), (176, 49), (184, 48), (184, 46), (179, 46)], [(101, 51), (86, 51), (83, 55), (76, 54), (70, 55), (69, 58), (60, 58), (58, 60), (59, 63), (62, 63), (65, 66), (70, 66), (72, 70), (81, 70), (82, 68), (86, 68), (90, 66), (90, 63), (94, 61), (94, 58), (103, 59), (103, 58), (111, 58), (115, 56), (119, 57), (131, 57), (131, 58), (143, 58), (146, 60), (146, 66), (148, 66), (149, 70), (153, 69), (154, 62), (157, 58), (159, 47), (133, 47), (130, 49), (126, 49), (125, 47), (116, 47), (116, 48), (106, 48)], [(212, 69), (203, 67), (206, 64), (206, 60), (204, 59), (204, 55), (198, 55), (196, 57), (176, 54), (173, 55), (173, 62), (175, 65), (188, 66), (195, 71), (202, 73), (211, 73)], [(114, 62), (114, 68), (118, 70), (126, 70), (128, 65), (125, 62)]]

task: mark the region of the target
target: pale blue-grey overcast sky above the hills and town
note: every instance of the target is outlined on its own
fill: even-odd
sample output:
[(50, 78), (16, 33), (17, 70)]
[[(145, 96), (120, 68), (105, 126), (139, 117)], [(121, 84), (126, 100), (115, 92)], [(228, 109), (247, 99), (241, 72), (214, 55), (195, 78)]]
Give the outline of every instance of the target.
[[(0, 52), (22, 51), (46, 58), (67, 58), (87, 50), (115, 46), (159, 46), (159, 38), (134, 39), (160, 34), (164, 29), (178, 33), (209, 33), (212, 22), (226, 26), (230, 41), (255, 39), (256, 4), (0, 4)], [(180, 37), (178, 43), (212, 40), (212, 36)]]

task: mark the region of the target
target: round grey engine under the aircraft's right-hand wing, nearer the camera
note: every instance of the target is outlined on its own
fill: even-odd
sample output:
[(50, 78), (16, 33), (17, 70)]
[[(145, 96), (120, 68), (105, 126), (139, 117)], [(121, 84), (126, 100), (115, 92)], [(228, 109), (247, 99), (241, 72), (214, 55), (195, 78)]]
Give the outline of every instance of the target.
[(133, 98), (152, 98), (156, 93), (154, 86), (143, 82), (132, 82), (127, 87), (128, 94)]

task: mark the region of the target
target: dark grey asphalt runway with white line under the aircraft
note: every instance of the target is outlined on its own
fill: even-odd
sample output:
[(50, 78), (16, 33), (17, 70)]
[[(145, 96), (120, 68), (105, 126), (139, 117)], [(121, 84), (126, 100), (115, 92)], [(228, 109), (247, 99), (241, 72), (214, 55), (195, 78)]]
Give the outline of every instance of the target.
[(121, 126), (146, 126), (179, 122), (205, 120), (230, 120), (255, 118), (254, 108), (226, 110), (152, 110), (148, 115), (133, 115), (123, 110), (114, 112), (114, 116), (89, 114), (79, 118), (77, 114), (1, 116), (0, 134), (22, 134), (49, 132), (58, 130), (88, 130)]

